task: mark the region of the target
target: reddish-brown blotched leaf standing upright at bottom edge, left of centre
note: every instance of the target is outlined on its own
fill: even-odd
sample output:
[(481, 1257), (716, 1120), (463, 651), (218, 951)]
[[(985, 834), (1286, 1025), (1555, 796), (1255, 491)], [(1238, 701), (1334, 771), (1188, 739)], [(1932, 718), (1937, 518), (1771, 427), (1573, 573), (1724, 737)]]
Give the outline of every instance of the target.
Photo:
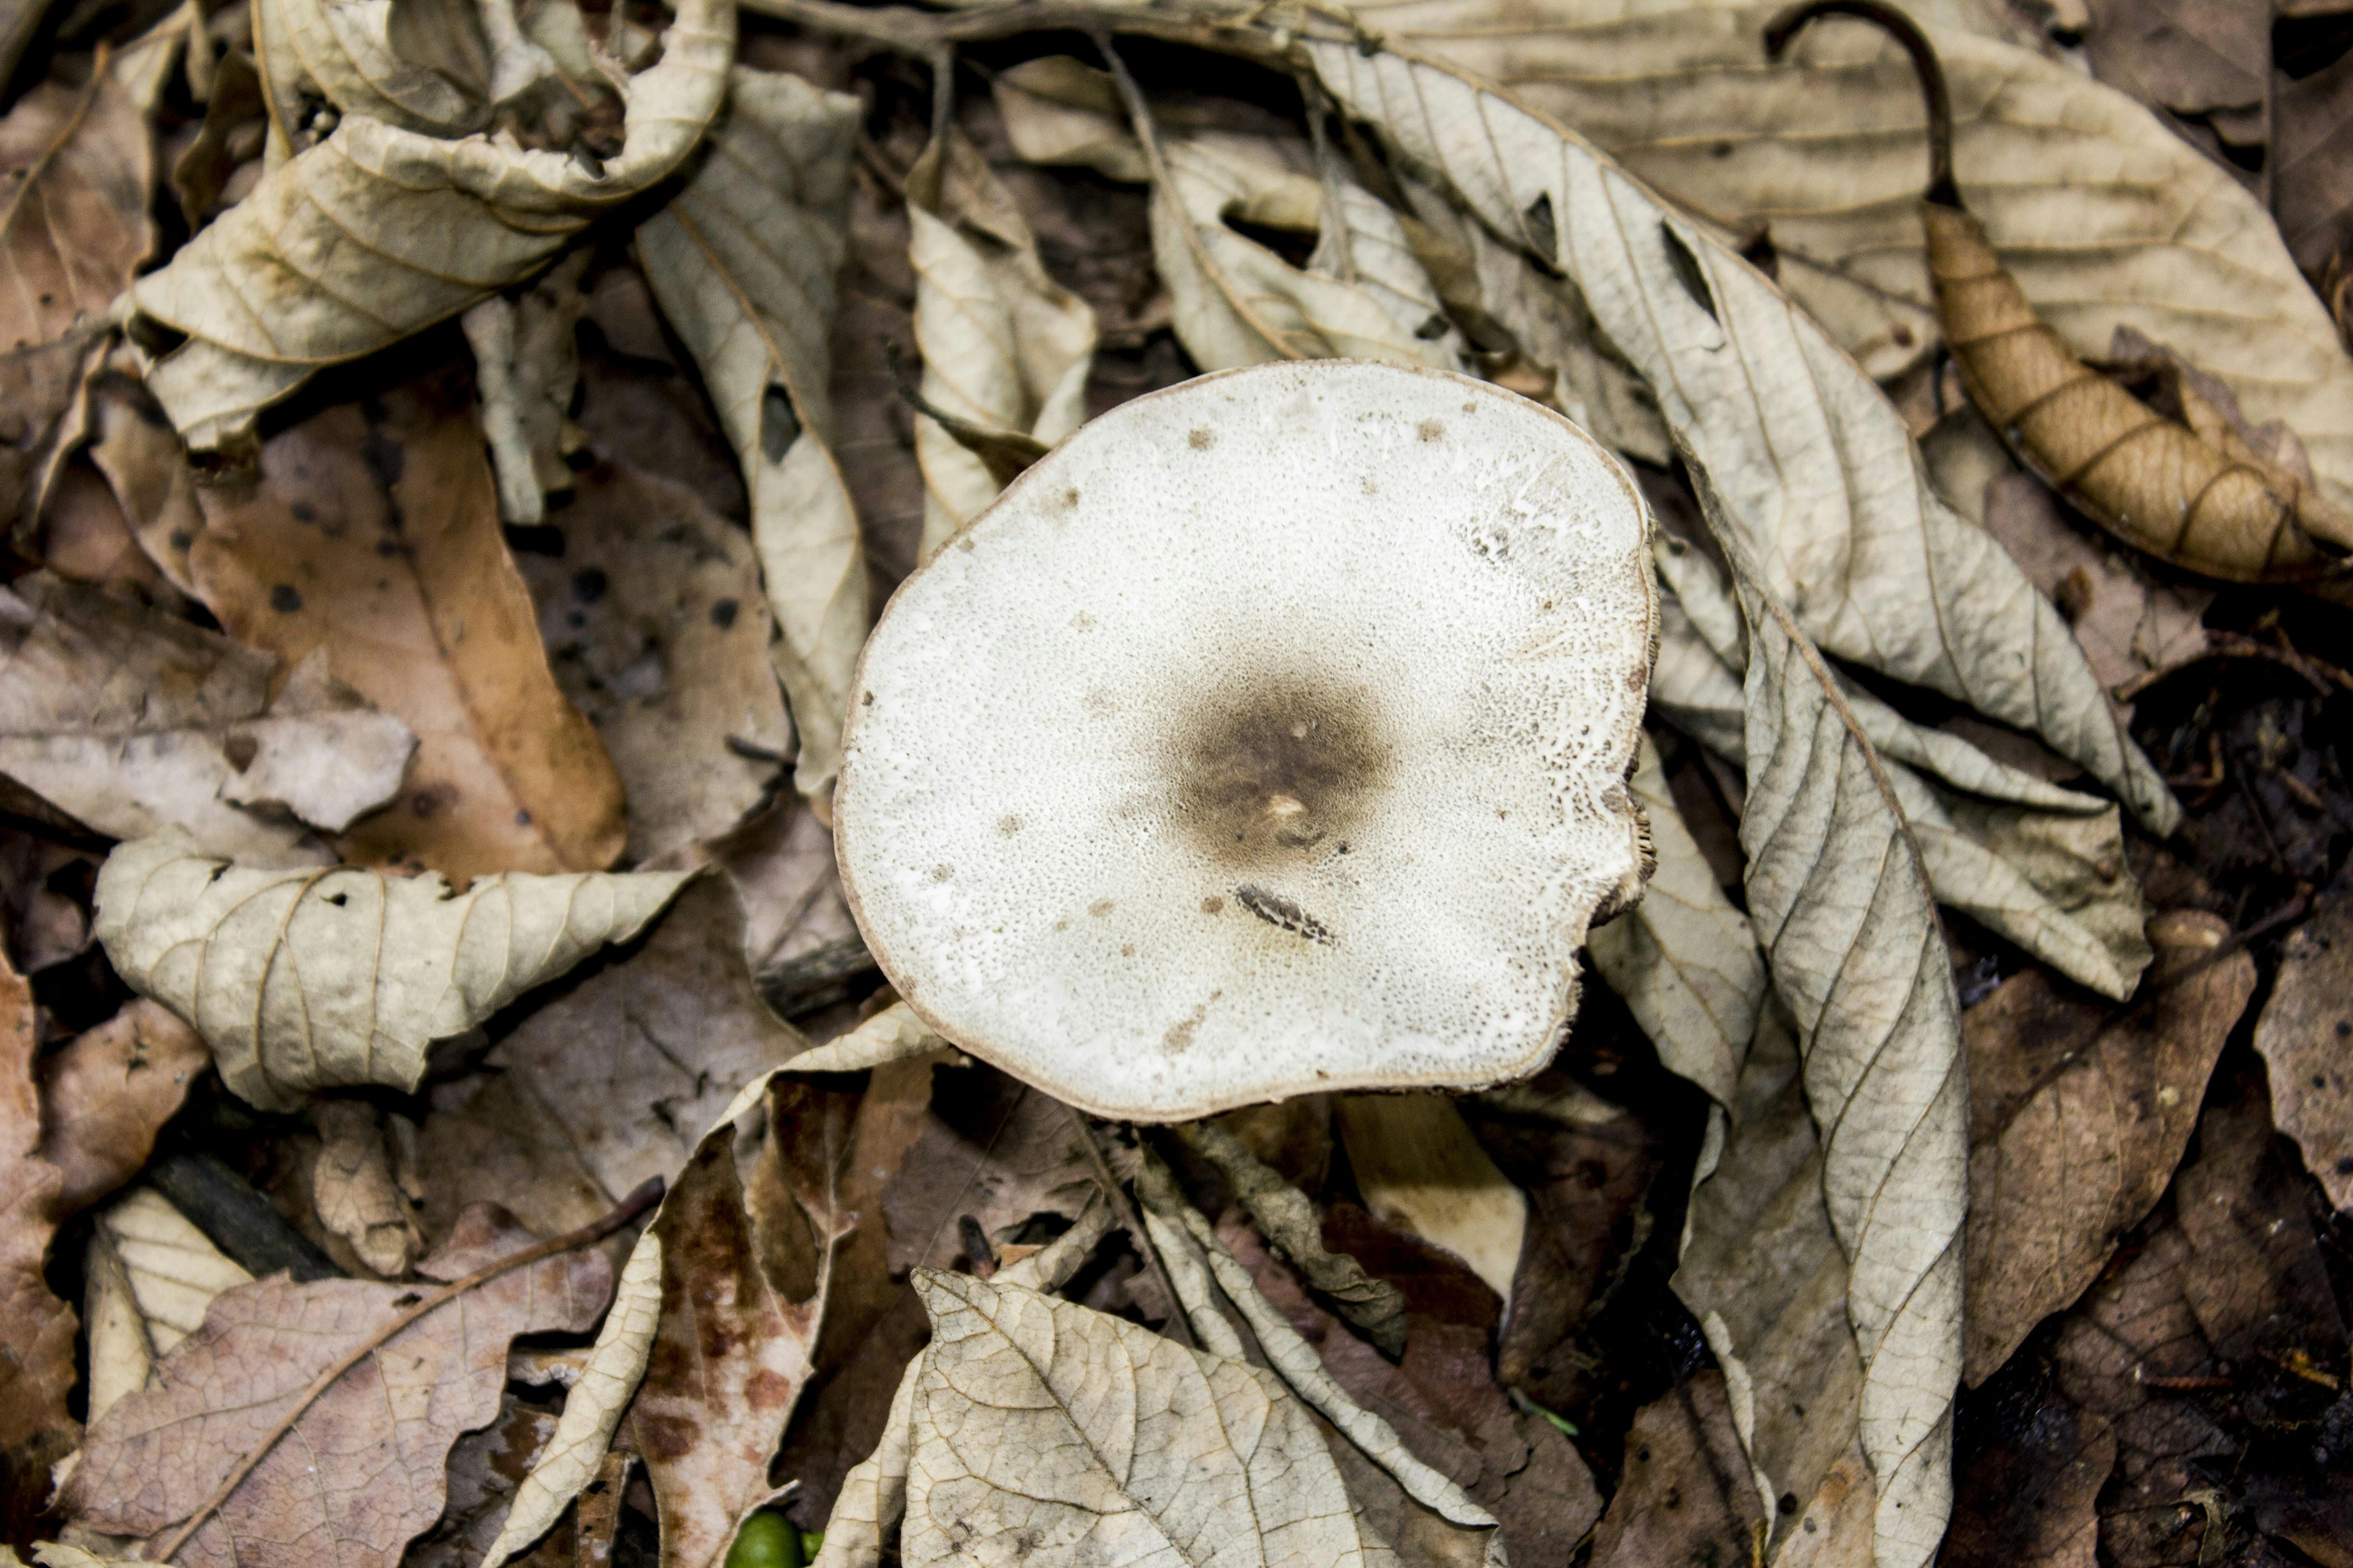
[(661, 1204), (661, 1326), (631, 1427), (661, 1505), (661, 1566), (708, 1568), (774, 1493), (767, 1465), (809, 1380), (842, 1213), (856, 1100), (767, 1084), (751, 1180), (715, 1126)]

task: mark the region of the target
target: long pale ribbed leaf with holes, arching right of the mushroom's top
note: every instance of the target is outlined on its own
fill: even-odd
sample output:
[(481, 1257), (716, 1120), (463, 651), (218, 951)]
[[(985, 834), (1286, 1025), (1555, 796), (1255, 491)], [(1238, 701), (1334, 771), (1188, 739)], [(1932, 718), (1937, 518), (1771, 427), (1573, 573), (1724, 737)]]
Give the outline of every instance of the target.
[(1301, 49), (1402, 160), (1577, 282), (1812, 639), (2042, 733), (2158, 830), (2179, 820), (2059, 611), (1934, 496), (1897, 409), (1788, 296), (1506, 94), (1388, 49)]

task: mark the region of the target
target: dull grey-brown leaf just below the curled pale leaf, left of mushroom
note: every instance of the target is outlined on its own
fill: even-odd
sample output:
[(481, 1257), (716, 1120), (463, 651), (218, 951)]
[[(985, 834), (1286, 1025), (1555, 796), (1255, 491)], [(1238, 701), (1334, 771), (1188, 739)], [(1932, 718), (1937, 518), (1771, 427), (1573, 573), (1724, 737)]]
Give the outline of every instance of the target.
[(675, 1178), (727, 1103), (805, 1048), (753, 990), (734, 889), (704, 875), (635, 952), (515, 1025), (489, 1067), (515, 1119), (553, 1133), (612, 1208)]

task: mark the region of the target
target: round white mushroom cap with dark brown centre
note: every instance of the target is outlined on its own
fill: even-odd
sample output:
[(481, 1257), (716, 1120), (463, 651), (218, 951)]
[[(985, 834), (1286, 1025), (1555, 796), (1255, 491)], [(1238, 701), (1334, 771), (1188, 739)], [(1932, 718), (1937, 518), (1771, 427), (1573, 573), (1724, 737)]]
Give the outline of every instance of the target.
[(1078, 430), (892, 597), (833, 802), (934, 1030), (1104, 1117), (1541, 1067), (1657, 639), (1649, 512), (1567, 418), (1311, 360)]

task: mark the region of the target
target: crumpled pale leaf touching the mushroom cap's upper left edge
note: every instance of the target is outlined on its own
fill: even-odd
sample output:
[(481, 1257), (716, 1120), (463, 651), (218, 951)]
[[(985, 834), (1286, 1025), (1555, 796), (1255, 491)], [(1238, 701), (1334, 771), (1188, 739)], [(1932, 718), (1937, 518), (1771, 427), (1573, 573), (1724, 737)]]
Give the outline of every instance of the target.
[[(908, 172), (908, 263), (925, 400), (988, 430), (1052, 447), (1087, 416), (1094, 308), (1054, 282), (1014, 197), (955, 132)], [(922, 545), (929, 557), (984, 505), (998, 480), (939, 421), (915, 425)]]

